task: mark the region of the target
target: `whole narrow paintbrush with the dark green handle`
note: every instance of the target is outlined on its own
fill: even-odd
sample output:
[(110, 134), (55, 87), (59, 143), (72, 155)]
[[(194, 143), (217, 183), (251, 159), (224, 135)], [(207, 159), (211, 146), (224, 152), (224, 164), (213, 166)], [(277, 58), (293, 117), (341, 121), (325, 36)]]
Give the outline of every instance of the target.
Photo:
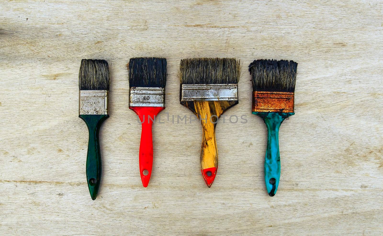
[(82, 59), (79, 73), (79, 117), (89, 131), (87, 183), (95, 200), (100, 188), (101, 153), (98, 134), (108, 115), (109, 67), (105, 60)]

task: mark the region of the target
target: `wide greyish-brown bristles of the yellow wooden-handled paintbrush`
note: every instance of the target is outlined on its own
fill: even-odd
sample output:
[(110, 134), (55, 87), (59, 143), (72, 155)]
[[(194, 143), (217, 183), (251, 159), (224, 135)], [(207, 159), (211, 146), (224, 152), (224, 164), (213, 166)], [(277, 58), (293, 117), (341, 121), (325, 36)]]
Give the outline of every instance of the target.
[(188, 58), (180, 63), (181, 84), (237, 84), (240, 75), (235, 58)]

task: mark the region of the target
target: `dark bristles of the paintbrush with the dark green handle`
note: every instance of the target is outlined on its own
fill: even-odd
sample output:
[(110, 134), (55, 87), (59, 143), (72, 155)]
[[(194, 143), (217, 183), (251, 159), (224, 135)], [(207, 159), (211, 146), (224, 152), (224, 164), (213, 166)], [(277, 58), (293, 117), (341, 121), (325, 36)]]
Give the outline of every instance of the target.
[(105, 60), (82, 59), (79, 73), (80, 90), (109, 90), (109, 66)]

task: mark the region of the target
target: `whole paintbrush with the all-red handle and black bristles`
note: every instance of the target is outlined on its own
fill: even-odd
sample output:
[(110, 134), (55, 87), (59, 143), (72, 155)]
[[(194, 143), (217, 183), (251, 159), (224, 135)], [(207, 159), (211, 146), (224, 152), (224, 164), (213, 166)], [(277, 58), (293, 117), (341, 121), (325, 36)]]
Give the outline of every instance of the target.
[(141, 120), (139, 169), (147, 187), (153, 166), (152, 124), (165, 109), (166, 59), (136, 57), (129, 60), (129, 108)]

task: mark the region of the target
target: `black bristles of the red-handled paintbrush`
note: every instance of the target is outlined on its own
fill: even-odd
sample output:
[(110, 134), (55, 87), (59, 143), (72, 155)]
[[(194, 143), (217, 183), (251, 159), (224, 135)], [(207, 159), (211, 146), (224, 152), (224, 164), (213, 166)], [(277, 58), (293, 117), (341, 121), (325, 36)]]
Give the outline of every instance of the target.
[(166, 85), (166, 58), (135, 57), (129, 60), (129, 87), (160, 87)]

